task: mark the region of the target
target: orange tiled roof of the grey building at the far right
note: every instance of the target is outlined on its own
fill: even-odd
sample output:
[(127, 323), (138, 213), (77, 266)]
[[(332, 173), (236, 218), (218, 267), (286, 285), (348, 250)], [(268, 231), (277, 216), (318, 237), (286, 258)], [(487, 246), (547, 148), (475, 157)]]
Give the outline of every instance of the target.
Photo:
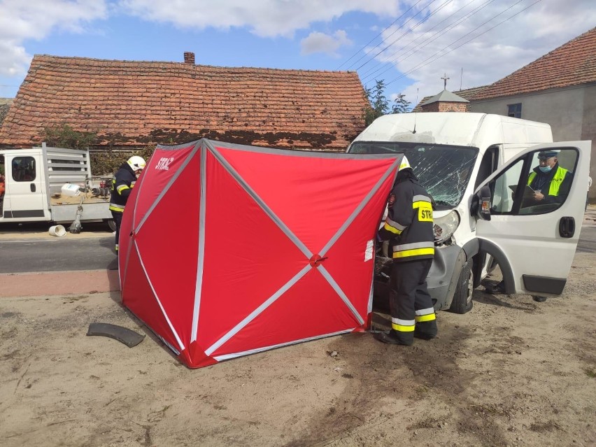
[(593, 82), (596, 82), (596, 28), (497, 80), (474, 100)]

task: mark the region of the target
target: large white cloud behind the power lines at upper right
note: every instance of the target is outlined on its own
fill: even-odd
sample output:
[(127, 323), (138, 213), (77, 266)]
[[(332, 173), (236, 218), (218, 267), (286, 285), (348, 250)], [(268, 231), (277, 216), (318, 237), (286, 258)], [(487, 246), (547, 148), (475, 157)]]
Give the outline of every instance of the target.
[[(414, 1), (407, 0), (409, 4)], [(388, 96), (398, 93), (399, 85), (409, 78), (413, 83), (402, 90), (414, 104), (417, 90), (420, 101), (443, 89), (444, 73), (450, 78), (450, 91), (460, 90), (460, 85), (463, 89), (487, 85), (546, 55), (596, 23), (593, 0), (541, 1), (531, 6), (535, 1), (499, 0), (481, 8), (485, 4), (481, 0), (455, 0), (441, 10), (432, 5), (425, 11), (427, 19), (423, 23), (418, 24), (416, 17), (400, 29), (386, 30), (383, 37), (388, 40), (383, 45), (374, 49), (371, 45), (366, 60), (395, 41), (358, 70), (360, 78), (369, 86), (374, 85), (375, 78), (384, 79), (390, 83)], [(528, 6), (531, 7), (520, 12)], [(469, 15), (474, 8), (478, 12)], [(430, 15), (433, 10), (437, 12)], [(457, 20), (460, 22), (455, 24)], [(386, 71), (388, 67), (397, 68), (402, 76)]]

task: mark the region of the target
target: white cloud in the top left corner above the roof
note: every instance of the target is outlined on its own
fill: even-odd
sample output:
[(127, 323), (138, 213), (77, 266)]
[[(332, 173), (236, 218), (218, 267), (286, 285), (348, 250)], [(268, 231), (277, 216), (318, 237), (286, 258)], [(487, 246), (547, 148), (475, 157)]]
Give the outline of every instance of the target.
[(106, 17), (103, 0), (0, 0), (0, 75), (27, 71), (27, 39), (42, 39), (62, 29), (82, 32), (86, 22)]

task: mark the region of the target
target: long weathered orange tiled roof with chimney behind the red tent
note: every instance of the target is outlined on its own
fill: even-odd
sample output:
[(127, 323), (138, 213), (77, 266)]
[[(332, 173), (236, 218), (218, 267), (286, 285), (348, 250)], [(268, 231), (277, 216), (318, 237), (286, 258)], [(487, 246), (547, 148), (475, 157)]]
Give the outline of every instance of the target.
[(343, 149), (364, 129), (365, 104), (355, 71), (36, 55), (0, 128), (0, 145), (30, 146), (44, 127), (66, 124), (115, 147), (204, 136)]

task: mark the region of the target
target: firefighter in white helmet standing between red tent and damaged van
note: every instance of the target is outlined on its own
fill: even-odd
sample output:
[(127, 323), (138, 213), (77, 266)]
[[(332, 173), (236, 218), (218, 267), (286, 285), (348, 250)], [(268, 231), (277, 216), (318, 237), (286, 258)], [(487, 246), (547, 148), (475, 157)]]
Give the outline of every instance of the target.
[(399, 166), (388, 202), (388, 216), (378, 232), (392, 244), (391, 330), (375, 334), (383, 343), (411, 345), (414, 336), (437, 336), (437, 320), (426, 277), (434, 257), (432, 197), (418, 183), (408, 159)]

